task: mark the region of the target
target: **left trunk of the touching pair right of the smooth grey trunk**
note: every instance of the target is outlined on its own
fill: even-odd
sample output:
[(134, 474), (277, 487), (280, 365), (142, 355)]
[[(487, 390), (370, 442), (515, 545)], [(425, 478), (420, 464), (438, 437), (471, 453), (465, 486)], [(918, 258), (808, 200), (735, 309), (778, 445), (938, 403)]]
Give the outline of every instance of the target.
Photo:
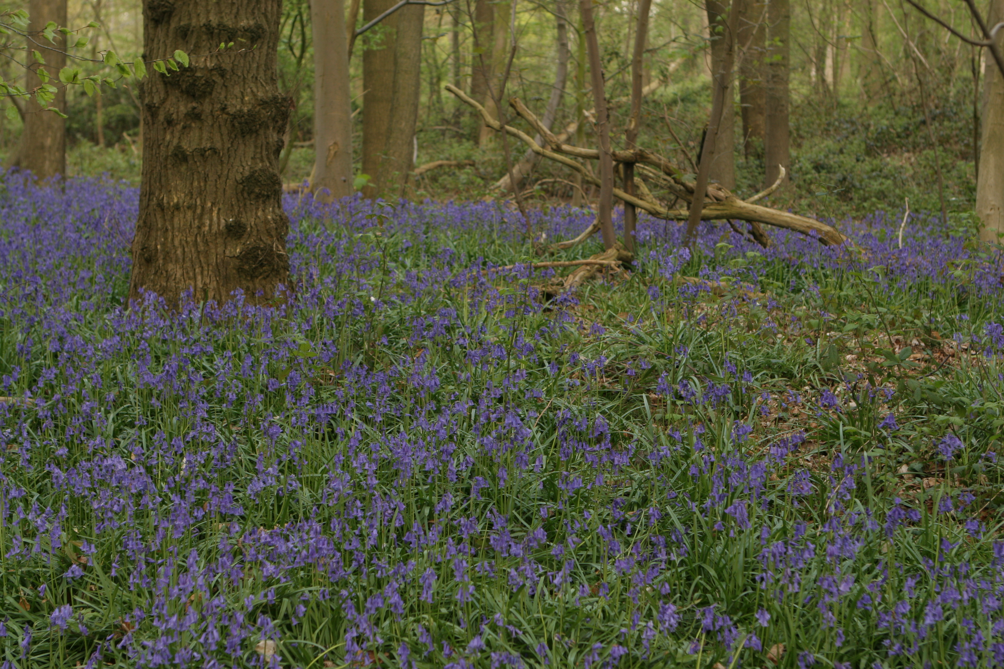
[[(395, 0), (366, 0), (362, 20), (371, 21), (393, 7)], [(362, 52), (362, 174), (369, 178), (362, 195), (376, 197), (378, 173), (391, 126), (391, 106), (394, 101), (394, 55), (398, 21), (403, 10), (384, 19), (380, 27), (384, 39)]]

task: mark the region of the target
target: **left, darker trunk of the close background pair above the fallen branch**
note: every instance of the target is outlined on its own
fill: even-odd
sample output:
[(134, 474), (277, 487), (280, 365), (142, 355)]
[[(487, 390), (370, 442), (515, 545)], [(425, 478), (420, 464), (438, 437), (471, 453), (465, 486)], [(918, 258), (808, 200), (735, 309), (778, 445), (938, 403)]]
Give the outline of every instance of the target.
[(763, 155), (766, 97), (763, 90), (765, 0), (737, 0), (737, 48), (744, 49), (739, 64), (739, 103), (743, 117), (743, 150), (747, 157)]

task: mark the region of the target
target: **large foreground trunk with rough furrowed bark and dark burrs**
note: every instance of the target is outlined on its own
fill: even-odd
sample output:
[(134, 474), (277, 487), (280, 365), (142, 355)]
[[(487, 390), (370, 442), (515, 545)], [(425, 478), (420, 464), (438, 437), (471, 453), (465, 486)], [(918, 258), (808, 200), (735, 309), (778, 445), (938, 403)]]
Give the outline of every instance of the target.
[(280, 0), (172, 3), (145, 0), (144, 54), (175, 49), (191, 67), (153, 72), (144, 82), (148, 140), (133, 240), (130, 299), (153, 292), (176, 306), (196, 300), (249, 301), (279, 295), (289, 275), (277, 171), (290, 100), (279, 93)]

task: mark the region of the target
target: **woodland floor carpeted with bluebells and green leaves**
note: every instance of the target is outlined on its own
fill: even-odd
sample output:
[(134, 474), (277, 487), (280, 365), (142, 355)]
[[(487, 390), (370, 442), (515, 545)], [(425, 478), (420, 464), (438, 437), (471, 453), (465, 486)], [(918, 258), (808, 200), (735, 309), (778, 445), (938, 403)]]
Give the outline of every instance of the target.
[(1004, 661), (1004, 273), (971, 230), (691, 255), (643, 219), (634, 267), (546, 299), (504, 204), (287, 196), (291, 299), (168, 315), (123, 309), (137, 202), (0, 187), (4, 662)]

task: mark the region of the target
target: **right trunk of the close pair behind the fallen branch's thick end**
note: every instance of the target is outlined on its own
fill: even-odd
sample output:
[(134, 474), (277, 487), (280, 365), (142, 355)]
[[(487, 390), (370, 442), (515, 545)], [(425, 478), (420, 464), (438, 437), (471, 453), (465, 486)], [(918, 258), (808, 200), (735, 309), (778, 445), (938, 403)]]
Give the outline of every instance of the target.
[[(791, 9), (788, 0), (768, 0), (767, 7), (767, 64), (766, 116), (764, 127), (764, 188), (769, 187), (780, 174), (778, 165), (791, 174), (788, 128), (788, 72), (790, 62)], [(785, 177), (788, 181), (789, 176)]]

